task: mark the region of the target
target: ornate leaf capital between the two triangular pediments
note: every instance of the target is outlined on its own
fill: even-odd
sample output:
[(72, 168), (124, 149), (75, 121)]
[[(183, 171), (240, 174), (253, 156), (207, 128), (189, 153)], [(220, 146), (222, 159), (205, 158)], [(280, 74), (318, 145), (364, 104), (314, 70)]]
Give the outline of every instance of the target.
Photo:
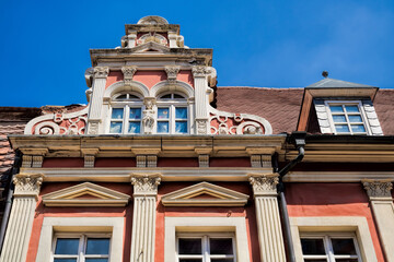
[(135, 196), (155, 196), (158, 186), (161, 182), (160, 175), (131, 175), (131, 184), (134, 186)]

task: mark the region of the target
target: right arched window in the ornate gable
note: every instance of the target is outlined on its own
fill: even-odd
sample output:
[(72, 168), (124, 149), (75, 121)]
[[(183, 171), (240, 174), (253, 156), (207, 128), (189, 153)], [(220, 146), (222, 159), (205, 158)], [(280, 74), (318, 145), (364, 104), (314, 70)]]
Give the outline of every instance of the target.
[(187, 99), (178, 93), (162, 94), (158, 98), (157, 133), (189, 133)]

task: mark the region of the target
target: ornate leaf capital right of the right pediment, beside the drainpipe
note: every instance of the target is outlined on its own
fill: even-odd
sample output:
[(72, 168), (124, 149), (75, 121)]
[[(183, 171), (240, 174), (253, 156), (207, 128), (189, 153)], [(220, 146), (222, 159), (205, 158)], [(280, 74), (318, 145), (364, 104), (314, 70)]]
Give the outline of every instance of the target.
[(278, 194), (278, 174), (250, 174), (248, 177), (255, 196), (275, 196)]

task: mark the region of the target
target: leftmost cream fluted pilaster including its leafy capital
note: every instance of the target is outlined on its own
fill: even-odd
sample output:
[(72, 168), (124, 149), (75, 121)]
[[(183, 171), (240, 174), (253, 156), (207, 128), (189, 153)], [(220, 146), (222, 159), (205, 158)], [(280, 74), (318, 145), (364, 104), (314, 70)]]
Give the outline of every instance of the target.
[(13, 178), (13, 182), (15, 184), (14, 200), (1, 251), (1, 262), (26, 261), (43, 176), (19, 174)]

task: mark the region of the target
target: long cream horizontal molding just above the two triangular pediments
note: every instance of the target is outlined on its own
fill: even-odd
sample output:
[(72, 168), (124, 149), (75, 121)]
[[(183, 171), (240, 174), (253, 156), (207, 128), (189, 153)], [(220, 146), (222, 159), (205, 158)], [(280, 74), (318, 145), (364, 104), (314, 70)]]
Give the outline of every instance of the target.
[(162, 167), (162, 168), (23, 168), (23, 174), (43, 174), (45, 182), (129, 182), (130, 174), (162, 176), (163, 181), (248, 181), (248, 174), (273, 174), (273, 168)]

